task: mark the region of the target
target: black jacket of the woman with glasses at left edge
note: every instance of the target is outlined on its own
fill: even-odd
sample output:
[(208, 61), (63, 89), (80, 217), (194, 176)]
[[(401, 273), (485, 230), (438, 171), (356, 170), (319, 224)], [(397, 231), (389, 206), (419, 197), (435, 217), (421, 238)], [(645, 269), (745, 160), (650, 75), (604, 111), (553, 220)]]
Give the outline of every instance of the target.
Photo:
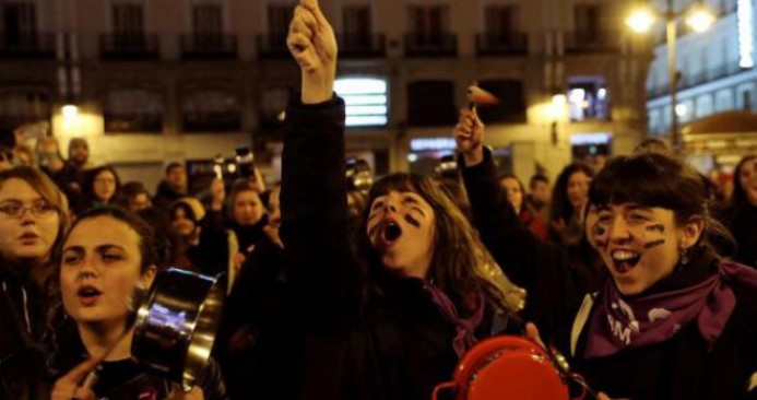
[(44, 296), (29, 277), (0, 268), (0, 399), (47, 397)]

